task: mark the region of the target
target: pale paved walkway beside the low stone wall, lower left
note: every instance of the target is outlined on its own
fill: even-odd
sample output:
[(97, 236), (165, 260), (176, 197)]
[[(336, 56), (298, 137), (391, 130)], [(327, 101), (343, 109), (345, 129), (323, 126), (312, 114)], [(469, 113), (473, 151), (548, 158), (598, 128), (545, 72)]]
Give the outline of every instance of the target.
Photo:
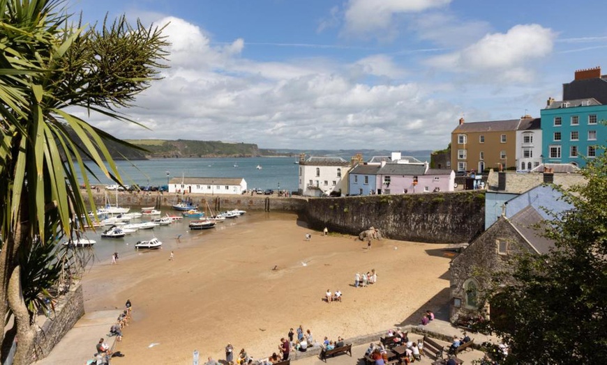
[(114, 348), (116, 337), (107, 337), (107, 334), (110, 333), (110, 327), (116, 323), (120, 313), (121, 310), (114, 309), (84, 314), (57, 343), (50, 355), (34, 364), (87, 364), (87, 360), (93, 359), (95, 346), (101, 338), (106, 339), (107, 344)]

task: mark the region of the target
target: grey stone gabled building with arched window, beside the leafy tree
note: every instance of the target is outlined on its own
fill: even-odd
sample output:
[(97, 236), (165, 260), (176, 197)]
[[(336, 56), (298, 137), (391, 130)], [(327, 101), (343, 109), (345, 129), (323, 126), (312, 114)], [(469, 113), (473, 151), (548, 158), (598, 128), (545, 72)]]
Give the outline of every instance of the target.
[[(545, 204), (550, 208), (550, 202), (546, 201)], [(500, 313), (499, 307), (479, 300), (479, 294), (488, 286), (486, 275), (497, 270), (511, 270), (509, 261), (516, 254), (547, 254), (554, 247), (554, 242), (542, 237), (533, 228), (534, 224), (541, 224), (543, 219), (532, 205), (527, 205), (511, 218), (502, 215), (451, 261), (451, 323), (465, 322), (469, 318), (477, 318), (481, 313)]]

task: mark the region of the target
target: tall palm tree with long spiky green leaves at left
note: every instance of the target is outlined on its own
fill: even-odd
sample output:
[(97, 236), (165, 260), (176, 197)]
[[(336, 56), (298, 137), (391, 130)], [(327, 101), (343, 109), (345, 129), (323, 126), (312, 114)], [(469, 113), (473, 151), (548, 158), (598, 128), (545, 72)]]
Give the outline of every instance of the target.
[(124, 17), (84, 27), (70, 22), (65, 3), (0, 0), (0, 318), (14, 316), (15, 364), (31, 362), (35, 335), (22, 296), (24, 260), (36, 244), (71, 236), (70, 222), (88, 219), (80, 189), (70, 188), (81, 177), (92, 204), (83, 158), (121, 183), (105, 142), (128, 143), (66, 108), (130, 122), (120, 109), (158, 78), (167, 56), (162, 28)]

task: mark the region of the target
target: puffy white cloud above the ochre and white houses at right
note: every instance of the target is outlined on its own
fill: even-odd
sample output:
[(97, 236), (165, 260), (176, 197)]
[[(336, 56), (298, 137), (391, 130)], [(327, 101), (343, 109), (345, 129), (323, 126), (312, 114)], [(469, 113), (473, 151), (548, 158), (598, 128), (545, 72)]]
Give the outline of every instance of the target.
[(553, 52), (555, 36), (538, 24), (516, 25), (507, 33), (487, 34), (460, 51), (433, 57), (430, 64), (486, 81), (529, 81), (533, 76), (529, 64)]

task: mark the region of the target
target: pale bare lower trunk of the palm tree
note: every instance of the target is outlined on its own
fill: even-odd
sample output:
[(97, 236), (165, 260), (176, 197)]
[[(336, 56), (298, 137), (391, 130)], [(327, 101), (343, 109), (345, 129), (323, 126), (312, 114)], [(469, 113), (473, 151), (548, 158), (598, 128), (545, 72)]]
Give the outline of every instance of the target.
[(13, 275), (8, 281), (8, 306), (15, 313), (15, 323), (17, 324), (17, 352), (15, 352), (15, 365), (31, 364), (33, 357), (33, 340), (36, 336), (36, 330), (31, 325), (29, 311), (23, 300), (21, 290), (21, 267), (15, 267)]

